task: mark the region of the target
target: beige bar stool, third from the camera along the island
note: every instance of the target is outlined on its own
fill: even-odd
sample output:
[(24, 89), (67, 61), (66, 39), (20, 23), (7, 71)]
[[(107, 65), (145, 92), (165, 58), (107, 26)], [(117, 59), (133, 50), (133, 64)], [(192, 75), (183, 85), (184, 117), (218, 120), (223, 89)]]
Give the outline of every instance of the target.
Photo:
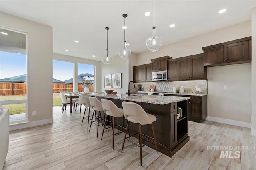
[[(89, 97), (89, 100), (90, 100), (90, 104), (91, 104), (92, 109), (93, 109), (93, 114), (92, 114), (92, 119), (91, 119), (92, 121), (91, 121), (89, 131), (91, 130), (92, 122), (97, 121), (96, 120), (97, 119), (96, 111), (98, 111), (98, 124), (97, 124), (97, 137), (98, 137), (99, 121), (101, 121), (101, 125), (103, 125), (102, 118), (101, 118), (101, 113), (100, 113), (100, 112), (103, 112), (103, 108), (102, 108), (102, 104), (101, 104), (100, 100), (98, 100), (96, 97)], [(95, 113), (95, 121), (93, 121), (94, 113)], [(104, 114), (104, 112), (103, 112), (103, 114)], [(105, 115), (104, 115), (104, 119), (105, 119)]]

